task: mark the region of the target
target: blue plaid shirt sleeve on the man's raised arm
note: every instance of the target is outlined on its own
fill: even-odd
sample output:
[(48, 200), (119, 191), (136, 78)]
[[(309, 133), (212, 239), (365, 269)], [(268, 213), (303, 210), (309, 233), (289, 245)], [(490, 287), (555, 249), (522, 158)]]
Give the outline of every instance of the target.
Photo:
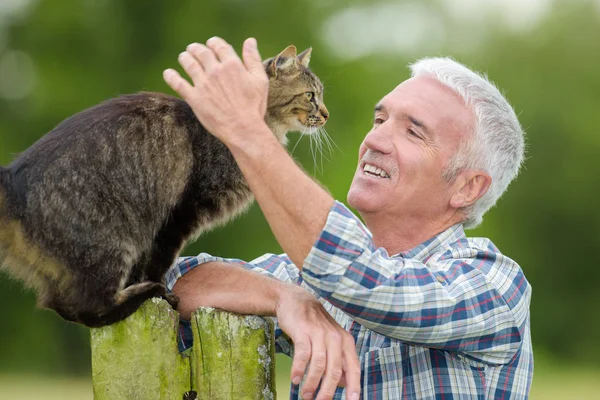
[(530, 286), (492, 249), (448, 249), (424, 264), (390, 257), (336, 202), (301, 273), (305, 284), (363, 326), (394, 339), (505, 364), (522, 342)]

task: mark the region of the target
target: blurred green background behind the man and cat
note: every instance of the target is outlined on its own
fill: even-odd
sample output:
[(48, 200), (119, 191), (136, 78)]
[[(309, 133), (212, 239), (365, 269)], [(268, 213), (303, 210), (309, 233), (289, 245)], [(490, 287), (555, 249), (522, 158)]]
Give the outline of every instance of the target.
[[(373, 106), (409, 62), (450, 55), (486, 72), (526, 129), (528, 156), (469, 234), (492, 238), (533, 286), (532, 398), (600, 397), (600, 1), (0, 0), (0, 164), (104, 99), (170, 93), (163, 69), (214, 35), (238, 50), (254, 36), (265, 58), (313, 47), (339, 148), (315, 160), (304, 138), (294, 157), (340, 200)], [(280, 249), (254, 206), (184, 254), (200, 251), (251, 259)], [(0, 275), (0, 399), (91, 398), (88, 336)], [(289, 362), (278, 362), (286, 398)]]

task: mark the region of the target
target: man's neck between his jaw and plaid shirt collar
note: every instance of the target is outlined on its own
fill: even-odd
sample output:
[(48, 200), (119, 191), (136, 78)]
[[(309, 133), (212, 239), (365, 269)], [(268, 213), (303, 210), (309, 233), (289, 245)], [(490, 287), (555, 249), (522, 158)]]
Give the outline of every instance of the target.
[(457, 214), (437, 220), (424, 220), (410, 216), (380, 217), (369, 214), (361, 214), (361, 216), (373, 233), (375, 245), (385, 248), (390, 255), (410, 250), (462, 220), (462, 216)]

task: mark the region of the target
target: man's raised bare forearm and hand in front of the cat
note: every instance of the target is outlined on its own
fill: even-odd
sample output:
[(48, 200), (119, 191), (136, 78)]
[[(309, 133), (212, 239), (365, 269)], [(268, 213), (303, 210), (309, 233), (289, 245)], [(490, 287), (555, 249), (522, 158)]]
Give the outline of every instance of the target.
[(165, 81), (232, 152), (277, 241), (302, 268), (334, 200), (265, 123), (268, 78), (256, 42), (244, 42), (244, 63), (223, 39), (207, 45), (191, 44), (179, 56), (193, 86), (174, 70), (165, 71)]

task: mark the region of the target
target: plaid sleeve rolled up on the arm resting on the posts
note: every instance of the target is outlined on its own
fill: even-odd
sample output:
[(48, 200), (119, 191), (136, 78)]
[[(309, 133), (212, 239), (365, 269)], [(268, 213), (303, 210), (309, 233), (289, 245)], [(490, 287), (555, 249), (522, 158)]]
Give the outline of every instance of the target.
[[(179, 278), (200, 266), (201, 264), (220, 261), (236, 264), (251, 271), (257, 272), (271, 278), (287, 283), (300, 285), (302, 279), (299, 270), (287, 254), (265, 254), (255, 260), (246, 262), (237, 258), (215, 257), (207, 253), (200, 253), (193, 257), (180, 257), (165, 275), (167, 290), (172, 291), (173, 286)], [(288, 356), (293, 356), (293, 344), (291, 339), (281, 330), (277, 318), (269, 317), (275, 325), (275, 351)]]

